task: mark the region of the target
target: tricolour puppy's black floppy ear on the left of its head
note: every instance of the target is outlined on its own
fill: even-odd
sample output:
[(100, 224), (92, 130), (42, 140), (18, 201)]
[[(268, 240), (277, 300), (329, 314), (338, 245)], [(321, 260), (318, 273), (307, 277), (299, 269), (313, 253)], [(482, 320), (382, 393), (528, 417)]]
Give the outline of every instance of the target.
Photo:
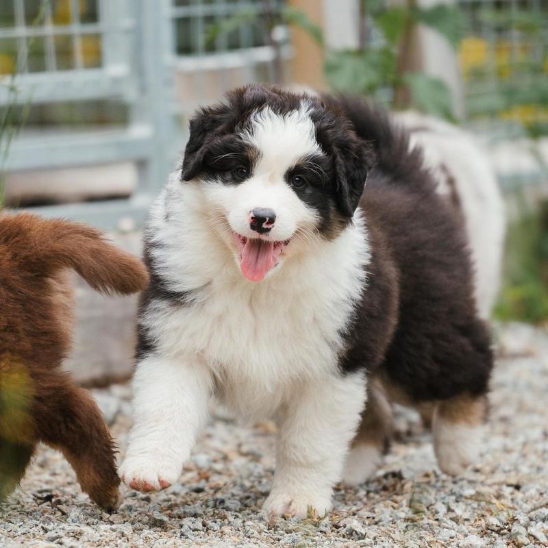
[(181, 179), (190, 181), (201, 171), (203, 159), (215, 138), (226, 133), (230, 120), (228, 105), (201, 108), (190, 119), (190, 137), (184, 149)]

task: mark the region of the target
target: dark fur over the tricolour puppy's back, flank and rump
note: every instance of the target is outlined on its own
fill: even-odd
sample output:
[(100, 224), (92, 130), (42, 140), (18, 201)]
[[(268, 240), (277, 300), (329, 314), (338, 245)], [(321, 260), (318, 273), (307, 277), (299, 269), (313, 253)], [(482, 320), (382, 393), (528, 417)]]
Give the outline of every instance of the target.
[(368, 284), (347, 337), (343, 371), (366, 367), (414, 401), (488, 390), (488, 328), (476, 312), (462, 216), (436, 194), (419, 149), (381, 110), (330, 99), (378, 163), (360, 201), (372, 249)]

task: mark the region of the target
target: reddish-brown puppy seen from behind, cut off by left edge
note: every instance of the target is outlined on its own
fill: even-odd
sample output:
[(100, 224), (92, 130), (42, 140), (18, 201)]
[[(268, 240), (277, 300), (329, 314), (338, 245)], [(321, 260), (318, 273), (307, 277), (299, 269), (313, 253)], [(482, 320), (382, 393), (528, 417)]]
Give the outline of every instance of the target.
[(0, 499), (42, 441), (60, 449), (82, 489), (112, 510), (119, 504), (112, 438), (95, 401), (61, 370), (73, 323), (67, 269), (96, 290), (123, 295), (148, 280), (140, 260), (94, 229), (0, 216)]

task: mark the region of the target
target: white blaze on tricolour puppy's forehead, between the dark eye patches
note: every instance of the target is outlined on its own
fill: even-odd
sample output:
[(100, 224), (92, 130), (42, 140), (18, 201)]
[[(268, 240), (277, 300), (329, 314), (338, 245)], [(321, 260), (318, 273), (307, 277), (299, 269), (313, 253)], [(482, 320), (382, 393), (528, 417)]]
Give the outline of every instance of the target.
[(286, 114), (276, 114), (269, 107), (256, 112), (243, 138), (260, 152), (260, 171), (285, 171), (306, 155), (321, 153), (306, 104)]

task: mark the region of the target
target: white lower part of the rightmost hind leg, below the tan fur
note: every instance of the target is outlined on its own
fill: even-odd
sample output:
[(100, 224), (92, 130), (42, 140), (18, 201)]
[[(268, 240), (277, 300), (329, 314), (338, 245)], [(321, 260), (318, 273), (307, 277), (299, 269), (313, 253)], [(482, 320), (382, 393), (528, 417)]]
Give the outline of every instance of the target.
[(462, 473), (479, 456), (482, 427), (434, 420), (434, 451), (438, 466), (449, 475)]

